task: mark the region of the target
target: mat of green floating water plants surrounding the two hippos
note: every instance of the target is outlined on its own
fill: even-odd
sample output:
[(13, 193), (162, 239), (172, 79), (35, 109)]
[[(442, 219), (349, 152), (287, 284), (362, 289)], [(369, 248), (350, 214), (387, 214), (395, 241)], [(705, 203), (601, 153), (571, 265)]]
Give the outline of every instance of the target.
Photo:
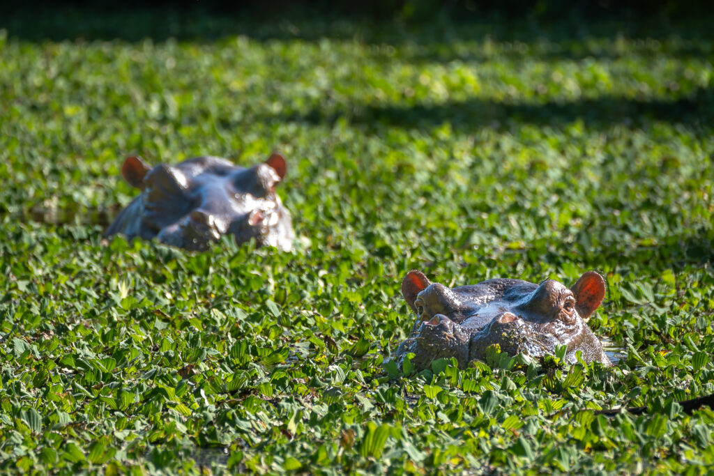
[[(711, 468), (710, 25), (437, 20), (2, 20), (1, 470)], [(274, 148), (294, 253), (103, 240), (127, 154)], [(399, 375), (411, 268), (597, 269), (620, 360)]]

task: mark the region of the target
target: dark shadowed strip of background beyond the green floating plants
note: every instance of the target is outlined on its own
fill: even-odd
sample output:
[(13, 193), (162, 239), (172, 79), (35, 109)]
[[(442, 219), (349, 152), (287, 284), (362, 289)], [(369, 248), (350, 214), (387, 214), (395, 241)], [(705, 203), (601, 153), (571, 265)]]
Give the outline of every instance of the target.
[[(319, 23), (364, 21), (446, 26), (492, 22), (497, 34), (528, 39), (529, 31), (509, 29), (504, 19), (528, 19), (533, 24), (557, 24), (562, 33), (583, 36), (592, 21), (619, 21), (625, 32), (656, 22), (683, 26), (711, 20), (708, 1), (613, 0), (40, 0), (32, 4), (4, 2), (0, 26), (24, 39), (215, 39), (231, 34), (278, 35), (316, 39), (325, 34), (346, 37), (352, 31), (322, 26), (308, 31), (286, 29), (280, 22), (318, 20)], [(108, 18), (126, 21), (106, 21)], [(250, 19), (248, 24), (241, 19)], [(236, 24), (238, 21), (238, 24)], [(266, 23), (278, 22), (273, 29)], [(251, 26), (261, 26), (261, 31)], [(388, 34), (388, 33), (386, 33)]]

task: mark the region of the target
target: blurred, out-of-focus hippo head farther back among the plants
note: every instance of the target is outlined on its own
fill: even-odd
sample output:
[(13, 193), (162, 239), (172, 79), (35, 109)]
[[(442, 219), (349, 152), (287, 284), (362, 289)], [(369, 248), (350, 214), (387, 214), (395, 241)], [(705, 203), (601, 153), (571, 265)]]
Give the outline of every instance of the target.
[(218, 157), (189, 158), (176, 166), (151, 168), (129, 157), (121, 174), (141, 195), (119, 213), (106, 236), (157, 238), (162, 243), (205, 250), (231, 234), (237, 243), (291, 250), (295, 234), (290, 214), (275, 193), (287, 166), (279, 153), (243, 168)]

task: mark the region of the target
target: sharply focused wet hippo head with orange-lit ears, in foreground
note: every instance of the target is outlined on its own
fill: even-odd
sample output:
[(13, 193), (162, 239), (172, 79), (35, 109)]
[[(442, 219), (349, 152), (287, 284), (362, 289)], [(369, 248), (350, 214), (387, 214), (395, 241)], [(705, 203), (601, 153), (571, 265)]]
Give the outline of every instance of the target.
[(402, 293), (418, 320), (396, 352), (400, 367), (409, 353), (417, 370), (438, 358), (456, 358), (460, 368), (484, 360), (486, 348), (498, 344), (509, 355), (554, 355), (567, 345), (565, 360), (611, 365), (600, 340), (585, 322), (605, 297), (605, 280), (595, 271), (566, 288), (555, 280), (534, 284), (518, 279), (491, 279), (447, 288), (431, 283), (421, 271), (407, 273)]

